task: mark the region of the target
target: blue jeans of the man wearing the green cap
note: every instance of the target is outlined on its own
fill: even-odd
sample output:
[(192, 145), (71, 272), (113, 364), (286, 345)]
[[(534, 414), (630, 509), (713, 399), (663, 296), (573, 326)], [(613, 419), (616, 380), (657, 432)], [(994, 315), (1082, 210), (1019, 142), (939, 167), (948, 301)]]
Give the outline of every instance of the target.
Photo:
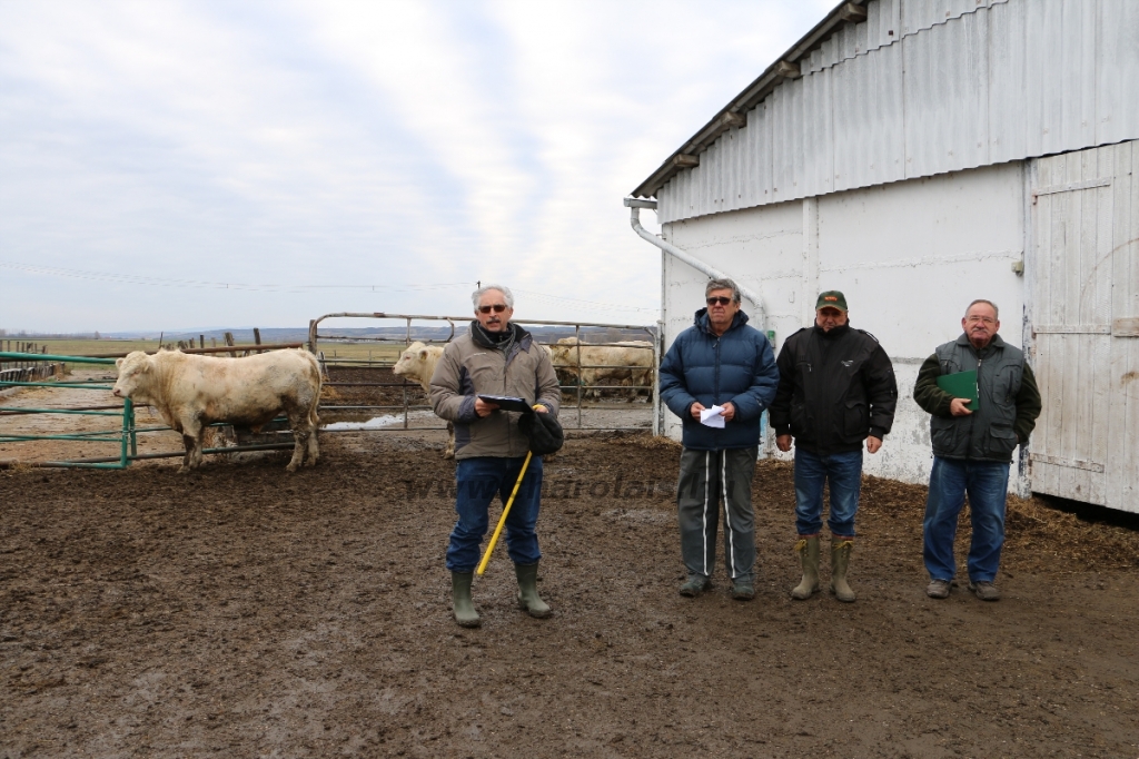
[(822, 532), (822, 484), (830, 480), (827, 527), (836, 538), (854, 537), (854, 515), (862, 490), (862, 451), (814, 454), (795, 449), (795, 529), (801, 536)]

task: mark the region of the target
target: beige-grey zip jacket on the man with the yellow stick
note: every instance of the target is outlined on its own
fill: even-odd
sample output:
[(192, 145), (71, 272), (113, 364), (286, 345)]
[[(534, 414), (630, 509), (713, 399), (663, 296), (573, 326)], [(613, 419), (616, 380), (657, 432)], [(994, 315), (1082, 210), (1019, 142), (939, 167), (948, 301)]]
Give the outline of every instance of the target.
[(477, 333), (448, 343), (431, 378), (431, 405), (435, 414), (454, 423), (454, 458), (476, 456), (522, 457), (530, 450), (518, 429), (519, 414), (475, 414), (476, 395), (514, 395), (527, 403), (541, 403), (557, 415), (562, 391), (549, 352), (533, 336), (514, 325), (517, 335), (510, 356), (491, 344), (482, 344)]

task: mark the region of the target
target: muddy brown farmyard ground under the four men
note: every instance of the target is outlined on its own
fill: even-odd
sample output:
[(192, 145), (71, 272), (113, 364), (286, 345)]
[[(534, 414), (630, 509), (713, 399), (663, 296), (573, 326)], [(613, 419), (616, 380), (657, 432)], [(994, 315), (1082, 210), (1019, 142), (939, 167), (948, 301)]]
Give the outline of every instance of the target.
[(871, 479), (858, 602), (792, 602), (790, 468), (761, 464), (756, 598), (719, 570), (688, 599), (678, 449), (577, 438), (539, 521), (555, 615), (499, 550), (462, 630), (421, 438), (323, 435), (295, 475), (0, 472), (0, 757), (1139, 757), (1126, 527), (1014, 501), (1005, 598), (937, 602), (924, 489)]

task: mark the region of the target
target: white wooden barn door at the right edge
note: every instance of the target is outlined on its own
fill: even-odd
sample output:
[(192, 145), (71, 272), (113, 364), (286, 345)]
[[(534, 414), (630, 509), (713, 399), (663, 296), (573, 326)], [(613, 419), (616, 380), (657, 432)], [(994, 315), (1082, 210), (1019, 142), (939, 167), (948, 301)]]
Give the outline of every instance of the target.
[[(1035, 161), (1029, 320), (1043, 411), (1032, 489), (1139, 511), (1139, 149)], [(1134, 336), (1132, 336), (1134, 335)]]

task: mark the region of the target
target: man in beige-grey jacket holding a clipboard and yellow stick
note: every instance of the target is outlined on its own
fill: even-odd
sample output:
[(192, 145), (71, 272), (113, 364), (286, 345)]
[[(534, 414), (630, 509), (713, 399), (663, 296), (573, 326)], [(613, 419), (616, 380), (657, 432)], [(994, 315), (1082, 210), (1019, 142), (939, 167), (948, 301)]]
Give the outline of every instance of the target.
[[(435, 414), (454, 424), (456, 503), (459, 519), (451, 531), (446, 568), (451, 570), (454, 621), (478, 627), (470, 599), (470, 581), (478, 547), (487, 528), (487, 509), (495, 493), (505, 504), (518, 480), (530, 442), (518, 427), (519, 414), (503, 411), (480, 395), (510, 395), (558, 413), (560, 390), (549, 353), (516, 324), (514, 295), (501, 285), (474, 292), (475, 320), (467, 334), (443, 350), (431, 379)], [(531, 617), (550, 615), (538, 595), (538, 511), (542, 490), (542, 459), (534, 456), (506, 521), (507, 549), (518, 578), (518, 605)]]

